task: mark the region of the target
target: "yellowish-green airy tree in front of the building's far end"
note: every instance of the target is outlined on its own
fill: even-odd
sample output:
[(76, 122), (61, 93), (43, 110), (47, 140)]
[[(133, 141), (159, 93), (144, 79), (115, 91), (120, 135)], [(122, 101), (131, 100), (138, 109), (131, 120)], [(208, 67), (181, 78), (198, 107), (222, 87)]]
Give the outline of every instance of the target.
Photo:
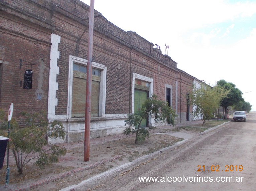
[(206, 84), (201, 84), (200, 88), (194, 86), (190, 96), (190, 104), (196, 106), (191, 112), (193, 118), (203, 116), (202, 125), (204, 125), (206, 120), (214, 117), (215, 111), (228, 93), (229, 91), (223, 87), (214, 86), (212, 88)]

